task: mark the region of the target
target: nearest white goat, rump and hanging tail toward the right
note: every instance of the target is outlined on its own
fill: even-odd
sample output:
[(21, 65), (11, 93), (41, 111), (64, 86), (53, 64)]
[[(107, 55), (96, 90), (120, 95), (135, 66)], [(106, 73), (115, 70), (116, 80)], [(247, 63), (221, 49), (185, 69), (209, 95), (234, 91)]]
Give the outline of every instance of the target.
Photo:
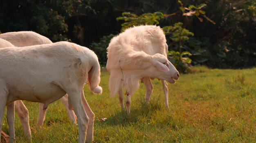
[(94, 113), (83, 93), (88, 86), (101, 94), (100, 66), (97, 55), (88, 48), (69, 42), (0, 48), (0, 130), (4, 108), (10, 139), (14, 134), (14, 101), (43, 103), (43, 109), (68, 93), (79, 124), (79, 143), (93, 141)]

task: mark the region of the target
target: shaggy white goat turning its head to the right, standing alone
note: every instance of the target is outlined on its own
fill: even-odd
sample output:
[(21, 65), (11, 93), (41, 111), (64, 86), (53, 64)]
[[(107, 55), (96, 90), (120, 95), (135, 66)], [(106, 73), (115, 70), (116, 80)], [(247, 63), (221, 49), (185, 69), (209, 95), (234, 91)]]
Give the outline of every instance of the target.
[[(150, 78), (162, 80), (165, 104), (168, 108), (166, 81), (175, 83), (179, 72), (167, 59), (168, 46), (162, 29), (158, 26), (136, 26), (128, 28), (111, 39), (106, 68), (110, 72), (110, 96), (118, 97), (124, 110), (122, 87), (126, 88), (126, 107), (130, 113), (131, 96), (142, 79), (146, 85), (146, 102), (149, 103), (153, 85)], [(175, 80), (173, 80), (175, 79)], [(165, 81), (166, 80), (166, 81)]]

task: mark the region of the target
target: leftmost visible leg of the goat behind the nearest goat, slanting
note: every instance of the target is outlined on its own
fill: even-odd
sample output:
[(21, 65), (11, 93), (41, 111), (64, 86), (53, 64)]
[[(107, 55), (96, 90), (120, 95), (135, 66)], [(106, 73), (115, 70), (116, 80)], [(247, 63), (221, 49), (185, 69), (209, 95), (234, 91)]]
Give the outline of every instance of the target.
[(15, 101), (15, 111), (20, 118), (25, 136), (31, 139), (31, 130), (29, 127), (29, 111), (21, 100)]

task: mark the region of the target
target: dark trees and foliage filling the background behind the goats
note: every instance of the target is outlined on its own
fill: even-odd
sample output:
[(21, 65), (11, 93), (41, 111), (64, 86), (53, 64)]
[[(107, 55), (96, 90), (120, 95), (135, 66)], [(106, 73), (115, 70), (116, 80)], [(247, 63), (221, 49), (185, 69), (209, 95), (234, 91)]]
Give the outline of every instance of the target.
[[(109, 37), (103, 36), (120, 32), (124, 21), (116, 18), (123, 12), (135, 15), (161, 12), (164, 18), (155, 23), (161, 27), (182, 22), (183, 28), (193, 32), (194, 37), (183, 44), (181, 51), (177, 45), (169, 50), (191, 52), (193, 65), (219, 68), (256, 65), (255, 0), (0, 0), (0, 3), (0, 32), (33, 30), (54, 42), (65, 40), (89, 46), (103, 65), (106, 48), (100, 46), (109, 43), (104, 40)], [(191, 10), (201, 13), (184, 15)], [(168, 45), (173, 43), (169, 37), (167, 40)]]

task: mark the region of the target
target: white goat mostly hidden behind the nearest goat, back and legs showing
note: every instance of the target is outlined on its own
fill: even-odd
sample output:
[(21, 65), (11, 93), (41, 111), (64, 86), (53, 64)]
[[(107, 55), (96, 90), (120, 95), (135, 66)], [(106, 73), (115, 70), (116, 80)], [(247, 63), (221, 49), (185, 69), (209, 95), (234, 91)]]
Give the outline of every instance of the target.
[[(30, 45), (41, 45), (41, 44), (52, 43), (52, 41), (47, 37), (44, 37), (43, 35), (40, 35), (33, 31), (6, 32), (3, 34), (0, 34), (0, 38), (9, 41), (16, 47), (25, 47)], [(70, 120), (76, 123), (76, 117), (74, 115), (73, 110), (70, 110), (68, 108), (67, 98), (68, 98), (68, 95), (66, 94), (61, 98), (61, 101), (66, 108), (66, 111)], [(23, 126), (23, 130), (25, 131), (27, 129), (26, 125), (29, 124), (29, 123), (25, 123), (25, 121), (27, 121), (27, 119), (29, 118), (27, 108), (22, 103), (22, 101), (18, 101), (18, 102), (16, 101), (15, 103), (16, 103), (15, 110), (18, 113), (18, 116), (20, 117), (22, 125), (25, 125)], [(43, 111), (43, 104), (39, 103), (39, 113), (38, 113), (38, 119), (36, 124), (38, 124), (39, 126), (43, 126), (43, 122), (45, 120), (45, 114), (46, 114), (46, 111)], [(27, 134), (28, 137), (31, 136), (31, 134), (28, 134), (27, 132), (25, 132), (25, 134)]]

